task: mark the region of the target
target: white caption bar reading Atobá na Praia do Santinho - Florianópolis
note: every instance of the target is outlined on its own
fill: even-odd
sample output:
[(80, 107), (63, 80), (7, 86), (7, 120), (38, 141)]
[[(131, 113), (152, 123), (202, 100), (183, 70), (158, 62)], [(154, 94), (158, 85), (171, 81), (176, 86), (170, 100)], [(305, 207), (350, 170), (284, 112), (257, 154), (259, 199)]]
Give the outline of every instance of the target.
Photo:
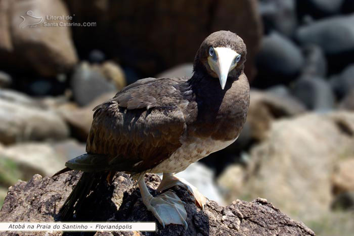
[(0, 231), (155, 231), (155, 222), (48, 222), (48, 223), (3, 223)]

